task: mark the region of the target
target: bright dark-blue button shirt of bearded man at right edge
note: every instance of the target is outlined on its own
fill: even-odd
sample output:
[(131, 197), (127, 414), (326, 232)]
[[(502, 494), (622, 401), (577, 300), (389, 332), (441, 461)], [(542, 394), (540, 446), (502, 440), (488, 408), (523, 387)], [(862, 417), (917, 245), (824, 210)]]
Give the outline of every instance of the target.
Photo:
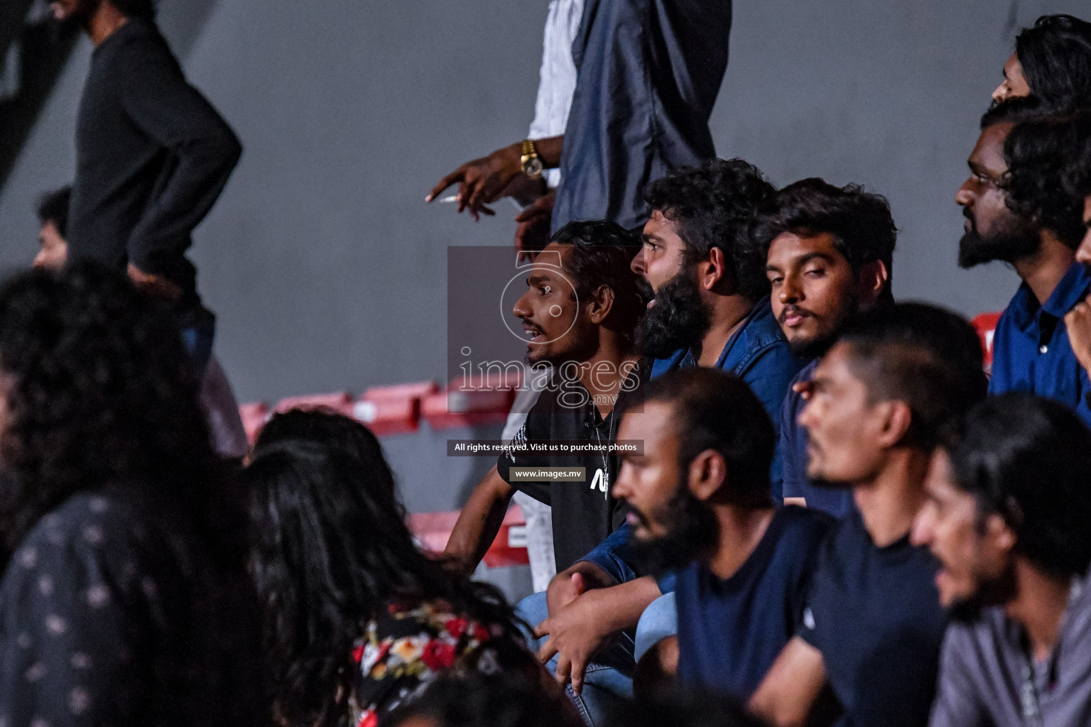
[(1064, 320), (1065, 314), (1087, 296), (1089, 288), (1091, 275), (1079, 263), (1072, 263), (1043, 305), (1039, 305), (1030, 286), (1019, 286), (996, 324), (990, 393), (1031, 391), (1056, 399), (1091, 425), (1091, 409), (1086, 401), (1091, 381), (1072, 353)]

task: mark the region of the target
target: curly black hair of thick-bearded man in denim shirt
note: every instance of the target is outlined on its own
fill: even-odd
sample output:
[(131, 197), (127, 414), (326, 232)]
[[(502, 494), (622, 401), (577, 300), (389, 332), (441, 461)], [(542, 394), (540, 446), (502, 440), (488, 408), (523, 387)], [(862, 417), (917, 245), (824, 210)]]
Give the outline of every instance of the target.
[(700, 167), (669, 171), (645, 192), (652, 209), (678, 226), (686, 262), (695, 263), (712, 247), (723, 251), (735, 289), (751, 300), (769, 292), (765, 266), (755, 274), (745, 265), (751, 215), (776, 187), (762, 170), (742, 159), (709, 159)]

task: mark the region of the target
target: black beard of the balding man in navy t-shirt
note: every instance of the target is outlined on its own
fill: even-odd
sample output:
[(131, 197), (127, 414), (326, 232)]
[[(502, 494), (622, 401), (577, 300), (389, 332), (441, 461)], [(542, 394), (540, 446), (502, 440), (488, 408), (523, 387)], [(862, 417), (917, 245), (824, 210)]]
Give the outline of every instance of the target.
[[(647, 528), (644, 513), (635, 508), (633, 512)], [(633, 558), (644, 572), (661, 575), (685, 568), (716, 548), (719, 535), (716, 513), (687, 487), (679, 488), (671, 498), (664, 508), (662, 522), (667, 531), (663, 535), (649, 538), (634, 535), (630, 540)]]

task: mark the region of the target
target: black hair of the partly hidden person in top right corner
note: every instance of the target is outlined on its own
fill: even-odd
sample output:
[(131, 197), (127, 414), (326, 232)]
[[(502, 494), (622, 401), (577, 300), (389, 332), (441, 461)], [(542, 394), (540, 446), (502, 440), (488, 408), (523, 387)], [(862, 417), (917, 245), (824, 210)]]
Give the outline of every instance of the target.
[(1016, 57), (1031, 93), (1050, 108), (1091, 106), (1091, 23), (1042, 15), (1016, 37)]

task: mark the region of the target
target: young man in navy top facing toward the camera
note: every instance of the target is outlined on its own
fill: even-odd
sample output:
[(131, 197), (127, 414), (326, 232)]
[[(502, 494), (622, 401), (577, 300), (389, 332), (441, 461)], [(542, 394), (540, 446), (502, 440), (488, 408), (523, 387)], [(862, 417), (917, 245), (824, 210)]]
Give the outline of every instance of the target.
[[(887, 201), (852, 184), (805, 179), (759, 207), (752, 254), (768, 276), (772, 313), (793, 353), (823, 355), (859, 310), (892, 301), (897, 235)], [(852, 509), (850, 490), (813, 484), (806, 473), (807, 436), (799, 424), (805, 401), (796, 389), (816, 366), (796, 375), (778, 412), (782, 490), (786, 502), (840, 518)]]

